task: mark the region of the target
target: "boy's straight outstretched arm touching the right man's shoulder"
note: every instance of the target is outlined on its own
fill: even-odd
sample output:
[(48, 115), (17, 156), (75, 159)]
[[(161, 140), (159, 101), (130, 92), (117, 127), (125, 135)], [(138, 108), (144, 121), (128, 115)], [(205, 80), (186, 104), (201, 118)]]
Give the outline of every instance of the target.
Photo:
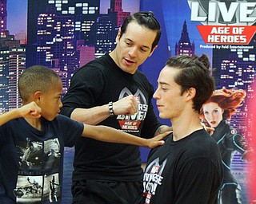
[(144, 139), (107, 126), (93, 126), (87, 124), (84, 125), (84, 130), (82, 132), (82, 136), (84, 137), (89, 137), (103, 142), (128, 143), (148, 148), (154, 148), (164, 144), (162, 139), (168, 134), (170, 134), (170, 131), (166, 131), (165, 133), (151, 139)]

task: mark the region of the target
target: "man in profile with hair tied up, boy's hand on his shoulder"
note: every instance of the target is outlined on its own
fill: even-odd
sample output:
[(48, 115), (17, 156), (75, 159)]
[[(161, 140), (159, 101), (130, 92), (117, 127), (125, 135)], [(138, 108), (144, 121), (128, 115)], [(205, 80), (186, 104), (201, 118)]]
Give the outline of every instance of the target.
[(222, 159), (216, 141), (202, 128), (199, 112), (214, 92), (209, 60), (176, 56), (166, 62), (154, 92), (159, 116), (173, 132), (150, 151), (143, 177), (145, 204), (214, 204), (222, 184)]

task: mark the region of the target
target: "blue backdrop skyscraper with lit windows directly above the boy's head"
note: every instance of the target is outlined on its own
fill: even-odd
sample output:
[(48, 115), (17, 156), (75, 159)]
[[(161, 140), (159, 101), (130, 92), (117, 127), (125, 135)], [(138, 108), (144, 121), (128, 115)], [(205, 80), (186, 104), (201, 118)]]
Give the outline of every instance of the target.
[[(74, 73), (74, 18), (70, 15), (39, 14), (37, 65)], [(68, 87), (63, 84), (64, 88)]]

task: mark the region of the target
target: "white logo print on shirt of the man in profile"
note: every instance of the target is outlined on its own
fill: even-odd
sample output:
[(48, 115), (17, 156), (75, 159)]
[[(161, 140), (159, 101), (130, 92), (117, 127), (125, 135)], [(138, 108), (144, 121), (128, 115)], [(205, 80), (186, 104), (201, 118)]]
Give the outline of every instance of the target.
[(159, 158), (154, 159), (147, 165), (145, 174), (143, 177), (143, 196), (146, 197), (146, 204), (150, 203), (151, 197), (155, 194), (158, 185), (162, 184), (162, 171), (166, 166), (167, 159), (160, 165)]

